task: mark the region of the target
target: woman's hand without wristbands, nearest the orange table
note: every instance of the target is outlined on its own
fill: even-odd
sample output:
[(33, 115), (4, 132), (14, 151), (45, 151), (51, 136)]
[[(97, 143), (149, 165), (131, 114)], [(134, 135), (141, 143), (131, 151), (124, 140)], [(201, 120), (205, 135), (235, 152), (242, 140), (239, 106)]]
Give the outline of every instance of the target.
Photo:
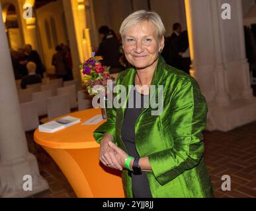
[(118, 163), (116, 160), (116, 156), (114, 155), (114, 150), (108, 146), (108, 142), (113, 143), (113, 138), (109, 134), (105, 134), (103, 136), (103, 140), (101, 140), (101, 148), (100, 148), (100, 154), (99, 154), (99, 159), (101, 162), (107, 166), (107, 167), (112, 167), (113, 169), (119, 169), (122, 171), (122, 166)]

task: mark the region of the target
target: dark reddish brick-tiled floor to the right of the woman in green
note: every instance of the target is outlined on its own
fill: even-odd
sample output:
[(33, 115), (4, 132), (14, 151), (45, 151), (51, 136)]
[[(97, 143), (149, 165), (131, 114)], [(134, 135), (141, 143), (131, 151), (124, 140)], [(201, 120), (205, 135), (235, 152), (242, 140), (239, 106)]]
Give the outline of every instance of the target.
[[(233, 131), (204, 132), (204, 158), (216, 197), (256, 197), (256, 122)], [(229, 175), (231, 191), (222, 191)]]

